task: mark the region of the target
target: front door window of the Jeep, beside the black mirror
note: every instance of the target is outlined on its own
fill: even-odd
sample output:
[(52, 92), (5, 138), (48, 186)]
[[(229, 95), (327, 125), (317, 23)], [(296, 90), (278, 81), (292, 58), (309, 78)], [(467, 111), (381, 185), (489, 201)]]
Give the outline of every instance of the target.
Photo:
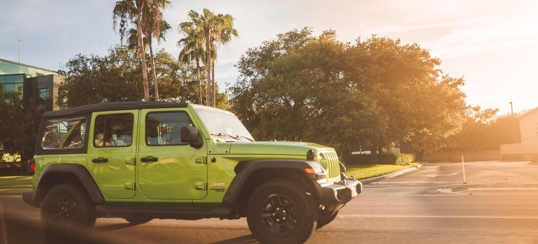
[(147, 114), (146, 117), (146, 144), (180, 145), (181, 128), (191, 126), (191, 119), (185, 112), (157, 112)]

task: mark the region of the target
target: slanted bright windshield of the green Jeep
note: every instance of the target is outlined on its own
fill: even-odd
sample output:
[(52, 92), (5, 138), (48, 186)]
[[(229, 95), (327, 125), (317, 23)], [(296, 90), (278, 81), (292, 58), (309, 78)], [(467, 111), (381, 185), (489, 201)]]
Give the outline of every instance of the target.
[(212, 137), (254, 141), (245, 125), (231, 112), (197, 107), (196, 112)]

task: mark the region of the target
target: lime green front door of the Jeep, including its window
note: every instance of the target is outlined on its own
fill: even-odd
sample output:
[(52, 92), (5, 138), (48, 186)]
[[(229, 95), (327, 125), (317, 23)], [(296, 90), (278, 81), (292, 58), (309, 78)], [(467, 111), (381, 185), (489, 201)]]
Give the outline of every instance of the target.
[(140, 112), (138, 185), (149, 199), (204, 199), (207, 195), (206, 146), (180, 141), (182, 126), (196, 126), (184, 109)]

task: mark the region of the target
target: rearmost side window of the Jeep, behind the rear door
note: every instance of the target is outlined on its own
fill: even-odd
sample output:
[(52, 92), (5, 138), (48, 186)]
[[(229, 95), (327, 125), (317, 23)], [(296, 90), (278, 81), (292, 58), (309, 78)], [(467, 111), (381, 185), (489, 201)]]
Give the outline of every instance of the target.
[(43, 149), (74, 149), (84, 146), (86, 118), (47, 121), (41, 147)]

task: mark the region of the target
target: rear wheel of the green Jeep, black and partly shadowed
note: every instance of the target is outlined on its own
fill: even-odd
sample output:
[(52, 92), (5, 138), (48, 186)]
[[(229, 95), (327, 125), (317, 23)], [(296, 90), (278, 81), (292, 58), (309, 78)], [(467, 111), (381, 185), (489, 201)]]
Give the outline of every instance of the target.
[(45, 226), (54, 229), (92, 228), (96, 220), (95, 205), (75, 186), (59, 184), (45, 195), (41, 219)]

